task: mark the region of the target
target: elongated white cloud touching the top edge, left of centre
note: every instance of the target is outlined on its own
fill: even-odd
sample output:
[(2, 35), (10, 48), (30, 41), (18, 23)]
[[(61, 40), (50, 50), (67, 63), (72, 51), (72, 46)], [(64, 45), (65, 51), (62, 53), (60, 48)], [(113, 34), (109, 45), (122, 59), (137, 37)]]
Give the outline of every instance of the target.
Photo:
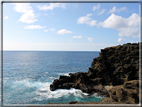
[(43, 5), (43, 6), (39, 5), (37, 7), (38, 7), (39, 10), (53, 10), (56, 7), (61, 7), (63, 9), (66, 8), (64, 3), (50, 3), (49, 6), (47, 6), (47, 5)]

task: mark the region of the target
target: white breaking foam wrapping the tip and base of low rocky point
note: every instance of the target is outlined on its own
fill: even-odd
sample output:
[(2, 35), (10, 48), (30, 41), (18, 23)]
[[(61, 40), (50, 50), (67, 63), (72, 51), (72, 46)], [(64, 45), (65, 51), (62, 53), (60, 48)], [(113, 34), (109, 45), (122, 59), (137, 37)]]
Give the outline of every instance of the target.
[[(39, 96), (42, 96), (46, 99), (57, 99), (57, 98), (61, 98), (61, 97), (71, 97), (71, 96), (75, 96), (76, 98), (103, 98), (103, 96), (99, 96), (97, 93), (94, 94), (88, 94), (85, 92), (82, 92), (80, 89), (57, 89), (55, 91), (51, 91), (50, 90), (50, 86), (45, 86), (42, 88), (39, 88), (36, 91), (36, 94)], [(41, 97), (40, 97), (41, 100)]]

